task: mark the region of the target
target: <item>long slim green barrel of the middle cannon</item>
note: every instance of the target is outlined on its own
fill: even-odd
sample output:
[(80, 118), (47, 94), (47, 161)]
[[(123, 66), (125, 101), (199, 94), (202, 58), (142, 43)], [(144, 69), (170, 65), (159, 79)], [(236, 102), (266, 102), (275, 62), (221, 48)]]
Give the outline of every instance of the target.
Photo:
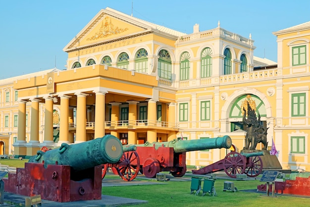
[(146, 142), (141, 145), (134, 145), (137, 147), (153, 147), (157, 150), (159, 147), (173, 148), (175, 153), (184, 153), (190, 151), (209, 150), (209, 149), (220, 149), (231, 147), (231, 138), (227, 135), (223, 137), (210, 138), (210, 139), (199, 139), (199, 140), (172, 140), (170, 142)]

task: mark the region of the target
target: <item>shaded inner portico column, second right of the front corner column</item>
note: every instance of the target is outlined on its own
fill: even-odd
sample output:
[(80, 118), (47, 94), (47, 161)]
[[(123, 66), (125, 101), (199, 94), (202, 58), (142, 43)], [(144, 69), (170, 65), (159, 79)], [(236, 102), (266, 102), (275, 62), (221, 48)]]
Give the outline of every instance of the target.
[[(135, 126), (137, 120), (137, 104), (139, 102), (128, 101), (127, 103), (129, 104), (128, 126), (131, 128)], [(137, 144), (137, 132), (133, 129), (128, 129), (128, 144)]]

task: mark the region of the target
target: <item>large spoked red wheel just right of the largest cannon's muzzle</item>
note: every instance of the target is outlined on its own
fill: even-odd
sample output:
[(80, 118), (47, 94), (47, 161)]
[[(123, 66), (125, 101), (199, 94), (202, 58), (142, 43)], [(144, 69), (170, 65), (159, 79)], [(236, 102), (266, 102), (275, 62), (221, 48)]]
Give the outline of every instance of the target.
[(116, 170), (118, 175), (125, 181), (135, 179), (140, 170), (140, 159), (136, 151), (123, 153), (117, 164)]

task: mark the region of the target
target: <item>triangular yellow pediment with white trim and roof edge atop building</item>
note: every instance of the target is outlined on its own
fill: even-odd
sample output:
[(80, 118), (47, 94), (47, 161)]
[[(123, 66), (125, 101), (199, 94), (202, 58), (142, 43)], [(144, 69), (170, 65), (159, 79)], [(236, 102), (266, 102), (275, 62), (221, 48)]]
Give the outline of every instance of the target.
[(184, 33), (156, 25), (111, 8), (100, 10), (97, 15), (63, 49), (65, 52), (78, 50), (104, 42), (138, 36), (148, 32), (160, 32), (178, 37)]

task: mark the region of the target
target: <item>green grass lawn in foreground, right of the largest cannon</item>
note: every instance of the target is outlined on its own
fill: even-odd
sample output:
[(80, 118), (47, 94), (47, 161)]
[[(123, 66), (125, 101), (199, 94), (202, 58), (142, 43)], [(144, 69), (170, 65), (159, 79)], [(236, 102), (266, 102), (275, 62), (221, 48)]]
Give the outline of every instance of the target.
[[(113, 175), (112, 175), (113, 176)], [(115, 175), (116, 176), (116, 175)], [(138, 178), (138, 177), (137, 177)], [(136, 179), (137, 179), (136, 178)], [(104, 179), (111, 179), (106, 177)], [(103, 182), (104, 182), (103, 179)], [(117, 176), (116, 178), (117, 179)], [(120, 179), (120, 178), (119, 178)], [(148, 180), (150, 181), (150, 180)], [(209, 194), (202, 196), (191, 194), (191, 181), (156, 181), (158, 185), (138, 185), (103, 187), (103, 195), (124, 197), (148, 201), (148, 204), (139, 207), (306, 207), (310, 206), (310, 198), (297, 198), (280, 195), (278, 197), (265, 196), (264, 193), (250, 193), (243, 190), (257, 189), (258, 185), (264, 184), (257, 180), (234, 182), (237, 192), (223, 191), (224, 179), (216, 179), (214, 188), (217, 196)], [(125, 182), (125, 181), (124, 181)], [(164, 183), (164, 184), (162, 184)]]

